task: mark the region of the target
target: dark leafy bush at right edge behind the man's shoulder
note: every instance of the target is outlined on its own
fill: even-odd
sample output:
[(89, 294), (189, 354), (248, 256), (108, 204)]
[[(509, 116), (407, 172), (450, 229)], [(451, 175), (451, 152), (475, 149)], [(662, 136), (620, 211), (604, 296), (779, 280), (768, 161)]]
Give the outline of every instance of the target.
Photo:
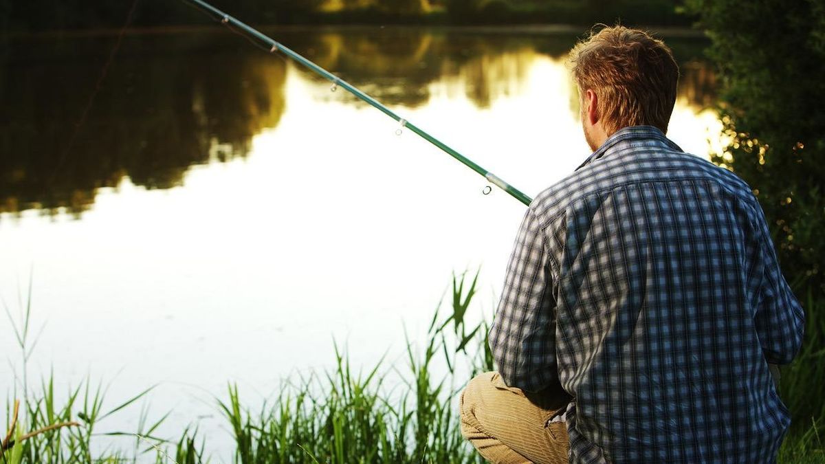
[(730, 142), (716, 161), (754, 189), (794, 287), (821, 295), (825, 1), (690, 0), (688, 7), (701, 15), (719, 68)]

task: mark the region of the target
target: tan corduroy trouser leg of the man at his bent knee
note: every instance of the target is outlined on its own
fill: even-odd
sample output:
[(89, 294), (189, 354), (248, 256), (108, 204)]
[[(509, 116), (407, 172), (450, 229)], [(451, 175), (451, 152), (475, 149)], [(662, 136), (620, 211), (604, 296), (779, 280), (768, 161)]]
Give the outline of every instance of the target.
[(490, 462), (566, 463), (567, 426), (548, 420), (569, 400), (561, 387), (526, 394), (506, 386), (497, 372), (485, 372), (461, 394), (461, 434)]

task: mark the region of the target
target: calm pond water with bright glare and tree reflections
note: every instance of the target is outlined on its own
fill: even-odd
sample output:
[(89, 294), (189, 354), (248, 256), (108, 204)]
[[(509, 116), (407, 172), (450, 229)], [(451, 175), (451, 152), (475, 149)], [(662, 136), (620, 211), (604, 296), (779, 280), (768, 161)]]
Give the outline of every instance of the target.
[[(271, 31), (530, 196), (589, 154), (563, 54), (518, 31)], [(667, 37), (666, 37), (667, 38)], [(493, 311), (524, 206), (397, 123), (219, 30), (12, 40), (0, 51), (0, 296), (30, 272), (37, 379), (111, 382), (110, 405), (160, 383), (166, 431), (226, 449), (212, 395), (255, 404), (285, 376), (356, 365), (426, 329), (453, 271), (482, 266)], [(682, 66), (669, 136), (705, 156), (704, 44)], [(0, 327), (0, 391), (21, 357)], [(19, 382), (18, 382), (19, 383)], [(11, 393), (9, 393), (11, 395)], [(130, 415), (132, 414), (132, 415)], [(104, 429), (133, 428), (137, 410)], [(225, 458), (225, 455), (224, 455)]]

